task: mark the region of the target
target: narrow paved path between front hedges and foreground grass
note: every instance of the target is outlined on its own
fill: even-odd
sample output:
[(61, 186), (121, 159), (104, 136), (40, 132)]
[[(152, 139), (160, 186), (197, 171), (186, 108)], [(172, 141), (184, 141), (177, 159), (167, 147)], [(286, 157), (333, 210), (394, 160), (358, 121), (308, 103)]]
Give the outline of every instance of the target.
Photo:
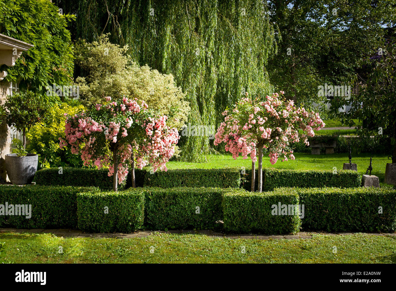
[[(17, 232), (17, 233), (52, 233), (55, 236), (71, 237), (71, 238), (142, 238), (145, 236), (152, 235), (152, 231), (142, 230), (133, 234), (123, 234), (123, 233), (97, 233), (97, 234), (87, 234), (81, 230), (74, 229), (17, 229), (17, 228), (0, 228), (0, 234), (3, 232)], [(161, 233), (166, 233), (164, 231), (158, 231)], [(256, 239), (256, 240), (269, 240), (272, 239), (310, 239), (313, 234), (325, 234), (329, 236), (335, 235), (353, 235), (358, 232), (340, 232), (340, 233), (328, 233), (328, 232), (298, 232), (295, 235), (254, 235), (254, 234), (224, 234), (221, 232), (214, 232), (212, 230), (169, 230), (169, 234), (205, 234), (208, 236), (224, 237), (224, 238), (245, 238), (245, 239)], [(396, 236), (396, 233), (369, 233), (375, 236)]]

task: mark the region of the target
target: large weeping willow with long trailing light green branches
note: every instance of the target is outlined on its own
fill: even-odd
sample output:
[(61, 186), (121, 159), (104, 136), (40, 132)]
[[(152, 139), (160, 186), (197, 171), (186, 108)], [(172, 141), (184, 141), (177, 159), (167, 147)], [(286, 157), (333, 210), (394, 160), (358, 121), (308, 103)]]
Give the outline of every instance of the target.
[[(63, 0), (77, 15), (74, 39), (128, 45), (133, 61), (173, 74), (190, 103), (188, 123), (217, 127), (221, 112), (248, 91), (272, 91), (266, 70), (276, 52), (274, 27), (261, 0)], [(181, 159), (202, 161), (208, 136), (186, 136)]]

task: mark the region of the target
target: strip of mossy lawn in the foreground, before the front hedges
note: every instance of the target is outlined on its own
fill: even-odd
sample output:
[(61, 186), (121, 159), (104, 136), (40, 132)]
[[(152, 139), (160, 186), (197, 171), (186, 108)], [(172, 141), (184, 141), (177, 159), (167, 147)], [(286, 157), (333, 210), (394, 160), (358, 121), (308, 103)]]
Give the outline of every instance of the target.
[[(94, 239), (5, 233), (0, 242), (6, 247), (2, 260), (13, 263), (396, 263), (396, 237), (369, 234), (256, 240), (203, 234)], [(60, 246), (63, 253), (58, 253)]]

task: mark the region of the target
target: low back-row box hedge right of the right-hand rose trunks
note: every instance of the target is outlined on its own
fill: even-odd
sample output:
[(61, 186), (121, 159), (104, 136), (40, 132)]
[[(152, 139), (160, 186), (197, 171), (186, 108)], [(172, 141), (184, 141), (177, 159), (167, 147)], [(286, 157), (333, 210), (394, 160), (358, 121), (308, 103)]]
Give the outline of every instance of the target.
[(362, 183), (360, 173), (352, 170), (338, 170), (337, 174), (326, 170), (291, 170), (266, 168), (263, 171), (263, 191), (280, 187), (301, 188), (354, 188)]

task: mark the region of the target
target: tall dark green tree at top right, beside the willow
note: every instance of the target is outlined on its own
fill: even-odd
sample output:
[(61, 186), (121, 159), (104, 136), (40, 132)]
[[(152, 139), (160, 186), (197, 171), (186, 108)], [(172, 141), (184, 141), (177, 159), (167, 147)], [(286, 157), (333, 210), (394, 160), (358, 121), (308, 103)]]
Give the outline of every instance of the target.
[(377, 48), (383, 26), (395, 23), (394, 0), (270, 0), (279, 29), (278, 52), (268, 59), (270, 82), (308, 107), (318, 86), (350, 85), (361, 60)]

